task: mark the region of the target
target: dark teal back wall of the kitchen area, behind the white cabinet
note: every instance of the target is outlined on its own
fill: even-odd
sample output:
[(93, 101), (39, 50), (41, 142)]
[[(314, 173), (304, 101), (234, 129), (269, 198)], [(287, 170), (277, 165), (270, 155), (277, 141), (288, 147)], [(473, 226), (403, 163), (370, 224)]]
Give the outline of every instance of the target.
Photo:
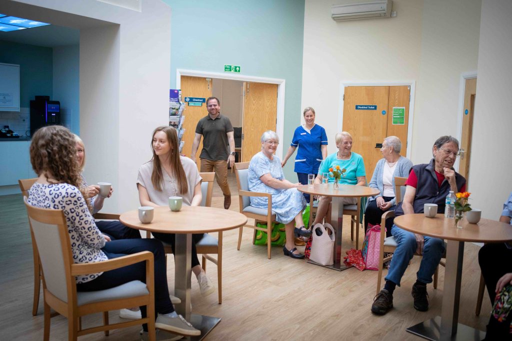
[(19, 105), (28, 108), (35, 95), (52, 98), (52, 48), (0, 41), (0, 62), (19, 64)]

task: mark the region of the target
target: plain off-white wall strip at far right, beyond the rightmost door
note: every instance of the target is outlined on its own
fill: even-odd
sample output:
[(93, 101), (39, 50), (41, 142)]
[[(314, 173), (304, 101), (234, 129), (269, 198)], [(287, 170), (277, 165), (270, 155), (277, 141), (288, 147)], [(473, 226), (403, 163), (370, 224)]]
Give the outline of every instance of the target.
[(478, 81), (473, 121), (470, 190), (472, 206), (498, 219), (512, 192), (512, 2), (483, 0)]

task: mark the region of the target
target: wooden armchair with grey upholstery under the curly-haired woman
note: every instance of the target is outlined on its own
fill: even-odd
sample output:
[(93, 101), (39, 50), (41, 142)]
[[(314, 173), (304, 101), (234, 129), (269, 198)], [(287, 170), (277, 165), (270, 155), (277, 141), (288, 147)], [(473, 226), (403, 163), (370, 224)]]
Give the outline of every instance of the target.
[[(44, 340), (50, 339), (50, 307), (68, 318), (68, 337), (125, 328), (147, 323), (149, 338), (155, 337), (154, 260), (151, 252), (139, 252), (104, 262), (74, 264), (66, 217), (61, 210), (39, 209), (30, 206), (25, 198), (31, 234), (39, 252), (45, 306)], [(132, 281), (120, 286), (89, 292), (77, 292), (75, 277), (94, 274), (144, 261), (146, 283)], [(109, 324), (109, 310), (147, 307), (147, 317), (124, 323)], [(80, 317), (103, 312), (103, 325), (82, 329)]]

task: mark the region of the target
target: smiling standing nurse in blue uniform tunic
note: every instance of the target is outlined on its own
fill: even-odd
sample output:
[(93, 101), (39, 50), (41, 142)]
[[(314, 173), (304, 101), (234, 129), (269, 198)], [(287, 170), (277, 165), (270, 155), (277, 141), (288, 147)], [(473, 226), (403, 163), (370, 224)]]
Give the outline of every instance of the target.
[[(315, 124), (315, 109), (306, 107), (303, 112), (306, 124), (297, 127), (293, 133), (293, 140), (286, 152), (281, 167), (286, 165), (290, 156), (298, 147), (295, 157), (295, 173), (298, 182), (303, 185), (308, 183), (308, 174), (318, 174), (318, 167), (327, 157), (327, 134), (325, 129)], [(309, 194), (304, 193), (306, 202), (309, 202)]]

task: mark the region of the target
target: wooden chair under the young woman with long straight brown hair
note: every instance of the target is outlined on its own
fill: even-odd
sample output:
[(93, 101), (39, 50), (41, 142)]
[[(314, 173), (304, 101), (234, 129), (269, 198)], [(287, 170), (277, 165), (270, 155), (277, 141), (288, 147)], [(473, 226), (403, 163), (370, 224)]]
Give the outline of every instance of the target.
[[(214, 191), (215, 172), (199, 173), (203, 178), (201, 183), (201, 193), (203, 199), (201, 206), (211, 207), (211, 196)], [(151, 233), (146, 232), (146, 237), (151, 238)], [(166, 254), (173, 254), (173, 248), (170, 244), (163, 242)], [(204, 237), (196, 244), (197, 253), (202, 255), (202, 268), (206, 271), (206, 260), (217, 265), (217, 287), (219, 292), (219, 304), (222, 303), (222, 231), (219, 231), (218, 238), (205, 233)], [(211, 254), (216, 254), (217, 259), (211, 257)]]

